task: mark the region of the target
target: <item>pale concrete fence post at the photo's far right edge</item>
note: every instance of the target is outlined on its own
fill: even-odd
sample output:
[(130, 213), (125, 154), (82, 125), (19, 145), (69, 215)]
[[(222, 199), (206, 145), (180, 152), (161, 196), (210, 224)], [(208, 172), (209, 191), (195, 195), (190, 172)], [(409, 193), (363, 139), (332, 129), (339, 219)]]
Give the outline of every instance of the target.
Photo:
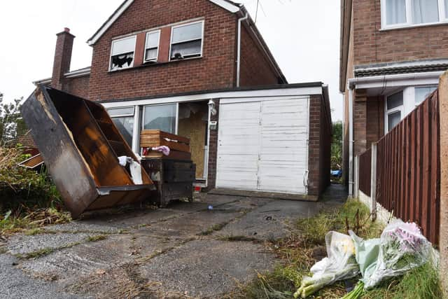
[(440, 279), (448, 298), (448, 72), (440, 77)]

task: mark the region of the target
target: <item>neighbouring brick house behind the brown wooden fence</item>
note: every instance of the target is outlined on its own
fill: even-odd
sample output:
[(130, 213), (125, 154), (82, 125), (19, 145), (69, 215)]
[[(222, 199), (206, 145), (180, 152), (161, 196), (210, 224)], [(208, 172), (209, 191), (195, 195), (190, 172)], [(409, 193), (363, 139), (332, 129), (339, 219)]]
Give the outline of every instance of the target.
[(344, 174), (437, 88), (448, 69), (447, 0), (342, 0)]

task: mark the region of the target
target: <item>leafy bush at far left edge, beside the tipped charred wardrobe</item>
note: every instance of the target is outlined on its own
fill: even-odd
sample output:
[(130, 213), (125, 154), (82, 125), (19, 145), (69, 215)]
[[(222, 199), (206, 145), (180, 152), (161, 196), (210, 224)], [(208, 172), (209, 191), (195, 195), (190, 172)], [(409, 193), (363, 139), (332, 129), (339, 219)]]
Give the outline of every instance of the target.
[(12, 103), (4, 104), (3, 95), (0, 92), (0, 146), (8, 144), (25, 134), (27, 127), (20, 115), (20, 99), (14, 99)]

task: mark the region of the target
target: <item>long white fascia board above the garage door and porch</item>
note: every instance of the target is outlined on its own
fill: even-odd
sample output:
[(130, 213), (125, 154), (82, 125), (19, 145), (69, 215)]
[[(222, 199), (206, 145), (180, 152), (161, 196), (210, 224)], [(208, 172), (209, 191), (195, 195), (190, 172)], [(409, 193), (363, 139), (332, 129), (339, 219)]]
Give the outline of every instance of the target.
[(272, 90), (237, 90), (228, 92), (211, 92), (200, 95), (181, 95), (173, 97), (160, 97), (154, 99), (137, 99), (131, 101), (120, 102), (105, 102), (101, 103), (106, 108), (117, 108), (123, 106), (142, 106), (151, 104), (169, 104), (177, 102), (197, 102), (208, 101), (209, 99), (221, 99), (223, 102), (251, 102), (257, 98), (266, 97), (267, 99), (274, 99), (276, 97), (306, 97), (309, 95), (322, 95), (322, 87), (311, 88), (281, 88)]

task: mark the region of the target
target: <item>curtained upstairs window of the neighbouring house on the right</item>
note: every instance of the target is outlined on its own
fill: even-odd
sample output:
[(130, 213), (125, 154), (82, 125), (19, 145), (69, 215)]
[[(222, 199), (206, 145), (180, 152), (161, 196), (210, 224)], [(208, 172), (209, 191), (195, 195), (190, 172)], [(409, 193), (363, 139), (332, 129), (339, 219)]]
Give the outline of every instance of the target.
[(447, 21), (448, 0), (381, 0), (383, 28)]

